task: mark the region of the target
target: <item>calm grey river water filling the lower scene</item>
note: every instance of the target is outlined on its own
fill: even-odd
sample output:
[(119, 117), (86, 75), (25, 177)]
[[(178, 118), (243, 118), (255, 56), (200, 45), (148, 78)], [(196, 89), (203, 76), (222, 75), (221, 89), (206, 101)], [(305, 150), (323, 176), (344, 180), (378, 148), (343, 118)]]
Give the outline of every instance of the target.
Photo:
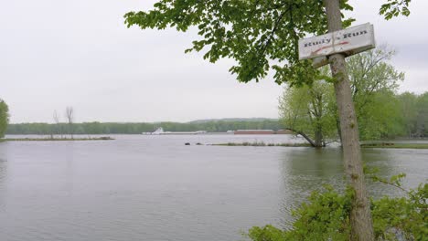
[[(338, 148), (206, 145), (302, 141), (288, 135), (113, 137), (0, 143), (0, 240), (243, 240), (252, 225), (290, 225), (323, 183), (343, 186)], [(407, 188), (428, 177), (428, 150), (363, 156), (382, 176), (407, 173)]]

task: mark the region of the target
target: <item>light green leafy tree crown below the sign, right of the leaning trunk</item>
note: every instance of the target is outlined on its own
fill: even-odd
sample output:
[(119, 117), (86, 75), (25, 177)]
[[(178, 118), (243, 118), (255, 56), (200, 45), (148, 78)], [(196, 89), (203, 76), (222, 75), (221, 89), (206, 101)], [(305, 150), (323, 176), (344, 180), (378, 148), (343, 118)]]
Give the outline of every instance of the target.
[(393, 49), (381, 46), (348, 58), (361, 140), (403, 134), (399, 100), (395, 94), (404, 80), (404, 73), (391, 65), (394, 54)]

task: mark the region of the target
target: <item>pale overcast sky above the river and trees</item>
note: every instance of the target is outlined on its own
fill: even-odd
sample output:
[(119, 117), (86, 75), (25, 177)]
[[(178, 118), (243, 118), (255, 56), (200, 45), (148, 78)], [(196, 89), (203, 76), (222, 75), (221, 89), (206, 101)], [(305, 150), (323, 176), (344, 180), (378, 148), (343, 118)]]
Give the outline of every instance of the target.
[[(383, 0), (385, 1), (385, 0)], [(398, 50), (401, 91), (428, 91), (428, 1), (385, 21), (383, 1), (353, 0), (355, 25)], [(194, 33), (126, 28), (123, 15), (155, 0), (13, 0), (0, 3), (0, 98), (11, 122), (52, 122), (67, 106), (76, 121), (192, 121), (278, 117), (283, 87), (272, 78), (238, 83), (230, 60), (184, 54)]]

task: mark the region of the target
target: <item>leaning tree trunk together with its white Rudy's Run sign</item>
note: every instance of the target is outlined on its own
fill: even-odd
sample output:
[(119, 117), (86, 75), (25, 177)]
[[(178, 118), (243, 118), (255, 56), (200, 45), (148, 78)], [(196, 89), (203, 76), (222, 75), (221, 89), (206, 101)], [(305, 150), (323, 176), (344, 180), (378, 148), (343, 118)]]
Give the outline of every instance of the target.
[(299, 41), (299, 58), (314, 58), (313, 65), (330, 64), (335, 79), (335, 96), (340, 123), (340, 137), (345, 173), (354, 191), (349, 215), (350, 239), (374, 240), (373, 222), (370, 214), (366, 183), (364, 182), (361, 147), (359, 146), (358, 121), (352, 101), (345, 58), (375, 47), (373, 26), (365, 24), (342, 29), (339, 0), (324, 0), (329, 33)]

